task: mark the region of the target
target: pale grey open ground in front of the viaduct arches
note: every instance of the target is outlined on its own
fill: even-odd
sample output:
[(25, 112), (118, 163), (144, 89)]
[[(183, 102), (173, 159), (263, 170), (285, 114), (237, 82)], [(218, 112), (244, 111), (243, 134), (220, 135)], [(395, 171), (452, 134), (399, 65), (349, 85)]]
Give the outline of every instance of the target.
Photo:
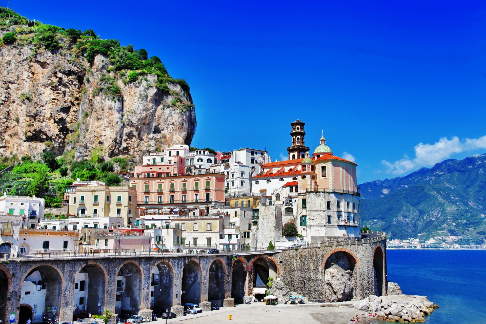
[[(232, 320), (228, 320), (229, 314), (232, 315)], [(263, 303), (254, 303), (231, 308), (222, 307), (220, 310), (177, 317), (168, 322), (184, 321), (184, 324), (349, 324), (351, 317), (357, 314), (356, 309), (348, 306), (321, 307), (318, 303), (266, 306)], [(359, 318), (360, 324), (367, 324), (375, 320), (375, 318), (361, 315)], [(159, 319), (156, 323), (163, 324), (165, 320)]]

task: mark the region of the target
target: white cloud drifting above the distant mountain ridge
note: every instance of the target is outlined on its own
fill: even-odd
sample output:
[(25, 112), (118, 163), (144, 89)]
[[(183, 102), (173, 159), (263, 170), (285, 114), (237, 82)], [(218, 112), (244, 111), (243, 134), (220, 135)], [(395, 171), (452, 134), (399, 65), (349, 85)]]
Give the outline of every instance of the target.
[(454, 136), (450, 140), (442, 137), (434, 144), (419, 143), (415, 145), (415, 158), (410, 159), (404, 156), (403, 159), (395, 162), (383, 160), (382, 163), (393, 174), (403, 174), (408, 171), (417, 170), (423, 166), (434, 165), (448, 159), (452, 154), (466, 152), (474, 149), (486, 149), (486, 135), (480, 138), (466, 138), (460, 140)]

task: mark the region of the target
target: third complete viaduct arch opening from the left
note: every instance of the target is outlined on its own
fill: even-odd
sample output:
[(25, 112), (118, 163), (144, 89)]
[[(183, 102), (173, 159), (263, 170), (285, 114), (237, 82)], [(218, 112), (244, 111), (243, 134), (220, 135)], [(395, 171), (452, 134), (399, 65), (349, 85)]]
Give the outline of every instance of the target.
[(118, 314), (138, 314), (140, 310), (141, 271), (135, 263), (124, 264), (117, 275), (115, 311)]

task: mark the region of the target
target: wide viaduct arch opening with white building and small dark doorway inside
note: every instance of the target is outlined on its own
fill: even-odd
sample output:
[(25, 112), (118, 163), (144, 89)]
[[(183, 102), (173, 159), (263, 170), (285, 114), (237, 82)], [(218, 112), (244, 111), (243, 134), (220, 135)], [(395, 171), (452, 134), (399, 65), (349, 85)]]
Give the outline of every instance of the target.
[(20, 290), (19, 318), (31, 318), (40, 323), (43, 317), (59, 319), (61, 306), (61, 275), (50, 266), (39, 266), (25, 277)]

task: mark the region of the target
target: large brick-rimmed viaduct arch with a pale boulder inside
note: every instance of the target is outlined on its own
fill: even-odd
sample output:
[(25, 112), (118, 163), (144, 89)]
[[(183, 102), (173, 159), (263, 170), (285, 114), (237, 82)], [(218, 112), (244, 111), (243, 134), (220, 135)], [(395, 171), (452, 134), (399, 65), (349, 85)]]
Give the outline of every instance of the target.
[(341, 302), (359, 297), (359, 260), (344, 248), (326, 255), (323, 262), (326, 302)]

